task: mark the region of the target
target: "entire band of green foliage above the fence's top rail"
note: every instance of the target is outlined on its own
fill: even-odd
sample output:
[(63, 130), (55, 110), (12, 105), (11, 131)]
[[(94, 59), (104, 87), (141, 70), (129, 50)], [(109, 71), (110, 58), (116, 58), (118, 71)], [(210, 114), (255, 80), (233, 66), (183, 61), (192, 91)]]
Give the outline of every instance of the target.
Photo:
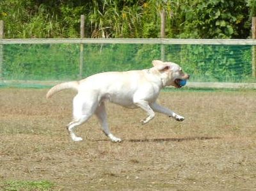
[(168, 38), (247, 38), (255, 0), (2, 0), (6, 38), (77, 38), (80, 15), (86, 37), (157, 38), (159, 12)]

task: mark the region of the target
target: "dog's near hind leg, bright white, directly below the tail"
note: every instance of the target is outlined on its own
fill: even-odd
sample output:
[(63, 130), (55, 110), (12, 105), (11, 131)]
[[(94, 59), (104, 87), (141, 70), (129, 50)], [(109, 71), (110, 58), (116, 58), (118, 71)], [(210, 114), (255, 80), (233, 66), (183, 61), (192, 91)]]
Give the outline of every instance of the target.
[(82, 141), (81, 137), (77, 137), (74, 129), (86, 122), (95, 112), (96, 105), (93, 102), (84, 102), (81, 96), (75, 96), (73, 100), (73, 121), (67, 125), (67, 129), (73, 141)]

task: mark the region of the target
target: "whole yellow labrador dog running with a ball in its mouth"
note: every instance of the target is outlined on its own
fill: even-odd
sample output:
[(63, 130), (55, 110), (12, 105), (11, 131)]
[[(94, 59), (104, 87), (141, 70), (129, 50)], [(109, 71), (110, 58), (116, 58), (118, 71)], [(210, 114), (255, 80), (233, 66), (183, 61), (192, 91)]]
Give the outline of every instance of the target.
[(104, 104), (106, 101), (129, 108), (140, 107), (146, 111), (148, 116), (141, 120), (141, 125), (153, 119), (155, 112), (166, 114), (177, 121), (184, 120), (184, 117), (158, 105), (156, 100), (161, 88), (180, 88), (179, 81), (189, 79), (189, 75), (172, 62), (154, 60), (152, 64), (154, 67), (145, 70), (97, 73), (80, 81), (64, 82), (51, 88), (46, 97), (51, 98), (63, 89), (77, 91), (73, 100), (73, 121), (67, 126), (73, 141), (83, 140), (76, 136), (74, 128), (96, 114), (104, 134), (111, 141), (120, 142), (122, 140), (109, 131)]

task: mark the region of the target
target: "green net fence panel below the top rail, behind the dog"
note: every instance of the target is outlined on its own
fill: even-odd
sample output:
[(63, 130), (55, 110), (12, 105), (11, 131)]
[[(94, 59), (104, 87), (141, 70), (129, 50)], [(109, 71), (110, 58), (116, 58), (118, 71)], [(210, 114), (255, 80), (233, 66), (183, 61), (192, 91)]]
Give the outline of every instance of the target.
[[(125, 43), (3, 44), (2, 85), (8, 80), (78, 80), (94, 73), (150, 68), (152, 60), (178, 63), (191, 82), (256, 82), (252, 45)], [(164, 53), (163, 53), (164, 49)]]

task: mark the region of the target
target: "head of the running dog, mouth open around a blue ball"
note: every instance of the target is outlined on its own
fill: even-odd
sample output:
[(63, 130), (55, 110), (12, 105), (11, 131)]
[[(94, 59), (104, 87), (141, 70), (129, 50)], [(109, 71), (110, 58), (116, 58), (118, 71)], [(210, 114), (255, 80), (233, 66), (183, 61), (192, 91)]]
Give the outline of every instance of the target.
[(152, 64), (159, 72), (163, 86), (174, 86), (175, 88), (181, 88), (179, 85), (180, 80), (189, 79), (188, 73), (184, 73), (182, 68), (175, 63), (154, 60), (152, 61)]

